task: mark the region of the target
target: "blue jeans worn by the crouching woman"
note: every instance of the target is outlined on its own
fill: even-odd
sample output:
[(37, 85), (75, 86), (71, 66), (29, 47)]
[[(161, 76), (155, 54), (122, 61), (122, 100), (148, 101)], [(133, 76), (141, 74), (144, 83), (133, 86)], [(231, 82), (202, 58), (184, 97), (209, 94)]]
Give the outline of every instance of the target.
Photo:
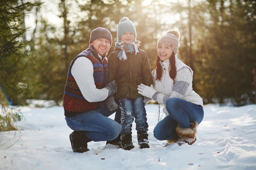
[(187, 102), (179, 98), (170, 98), (166, 102), (166, 110), (169, 115), (159, 121), (154, 129), (154, 136), (158, 140), (170, 140), (177, 136), (175, 128), (190, 127), (190, 122), (196, 121), (198, 124), (203, 119), (203, 108), (192, 102)]

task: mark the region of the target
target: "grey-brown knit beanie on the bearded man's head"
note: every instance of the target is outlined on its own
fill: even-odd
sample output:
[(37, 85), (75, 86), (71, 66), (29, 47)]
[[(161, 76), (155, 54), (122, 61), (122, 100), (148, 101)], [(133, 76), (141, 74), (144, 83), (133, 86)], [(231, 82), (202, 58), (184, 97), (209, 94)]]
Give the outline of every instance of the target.
[(107, 28), (98, 27), (91, 31), (89, 43), (96, 39), (105, 38), (110, 41), (110, 46), (112, 45), (112, 35)]

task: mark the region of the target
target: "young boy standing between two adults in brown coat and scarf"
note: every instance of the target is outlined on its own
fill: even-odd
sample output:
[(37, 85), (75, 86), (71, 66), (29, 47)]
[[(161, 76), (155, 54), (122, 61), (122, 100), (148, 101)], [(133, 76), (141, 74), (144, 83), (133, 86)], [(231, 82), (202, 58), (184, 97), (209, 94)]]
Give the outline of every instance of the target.
[(131, 131), (135, 118), (139, 147), (149, 148), (145, 110), (148, 101), (137, 93), (137, 85), (153, 84), (148, 57), (139, 49), (136, 28), (128, 17), (119, 21), (117, 38), (115, 50), (109, 56), (109, 81), (116, 80), (118, 86), (114, 98), (121, 110), (121, 146), (125, 150), (134, 148)]

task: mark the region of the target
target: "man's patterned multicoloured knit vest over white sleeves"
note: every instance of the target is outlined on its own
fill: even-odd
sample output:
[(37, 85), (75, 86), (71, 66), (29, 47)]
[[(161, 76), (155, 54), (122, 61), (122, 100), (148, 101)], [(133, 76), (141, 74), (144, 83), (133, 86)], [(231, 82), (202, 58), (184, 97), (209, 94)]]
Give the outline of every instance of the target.
[(74, 77), (71, 74), (71, 68), (73, 63), (79, 57), (87, 57), (91, 60), (93, 65), (93, 78), (96, 88), (101, 89), (105, 87), (108, 83), (109, 70), (108, 70), (108, 60), (104, 59), (100, 62), (96, 59), (89, 49), (82, 51), (76, 58), (73, 59), (69, 66), (64, 97), (63, 106), (64, 114), (66, 117), (74, 117), (85, 111), (99, 109), (103, 102), (88, 102), (83, 96), (75, 82)]

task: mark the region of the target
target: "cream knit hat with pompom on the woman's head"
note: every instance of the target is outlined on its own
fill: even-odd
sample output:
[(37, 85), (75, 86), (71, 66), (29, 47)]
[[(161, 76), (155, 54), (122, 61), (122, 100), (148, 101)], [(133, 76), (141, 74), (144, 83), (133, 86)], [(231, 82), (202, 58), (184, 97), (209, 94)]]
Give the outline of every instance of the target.
[(180, 36), (181, 35), (179, 31), (176, 31), (176, 30), (168, 31), (167, 34), (165, 34), (158, 40), (157, 47), (160, 43), (165, 43), (172, 48), (172, 50), (174, 51), (174, 54), (177, 54)]

